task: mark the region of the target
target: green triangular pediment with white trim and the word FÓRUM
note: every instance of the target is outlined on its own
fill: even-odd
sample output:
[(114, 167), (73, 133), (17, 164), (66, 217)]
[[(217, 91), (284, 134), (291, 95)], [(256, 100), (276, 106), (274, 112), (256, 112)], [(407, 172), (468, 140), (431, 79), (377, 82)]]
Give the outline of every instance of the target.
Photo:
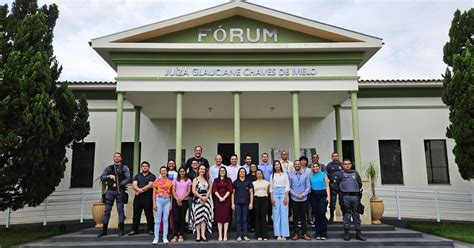
[(231, 1), (91, 41), (114, 68), (113, 52), (363, 52), (360, 67), (382, 44), (374, 36), (246, 1)]

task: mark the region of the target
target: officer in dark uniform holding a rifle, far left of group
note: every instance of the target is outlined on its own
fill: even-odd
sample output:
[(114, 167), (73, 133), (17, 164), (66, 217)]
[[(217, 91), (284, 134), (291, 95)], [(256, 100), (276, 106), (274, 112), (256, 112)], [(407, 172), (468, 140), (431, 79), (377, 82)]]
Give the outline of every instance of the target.
[(124, 222), (125, 213), (123, 210), (123, 194), (126, 194), (127, 184), (130, 182), (130, 170), (122, 164), (122, 155), (120, 152), (114, 153), (114, 163), (105, 168), (100, 176), (102, 182), (107, 183), (107, 191), (105, 192), (105, 211), (104, 211), (104, 226), (97, 237), (107, 235), (107, 228), (109, 225), (110, 213), (117, 202), (117, 212), (119, 215), (119, 236), (125, 235)]

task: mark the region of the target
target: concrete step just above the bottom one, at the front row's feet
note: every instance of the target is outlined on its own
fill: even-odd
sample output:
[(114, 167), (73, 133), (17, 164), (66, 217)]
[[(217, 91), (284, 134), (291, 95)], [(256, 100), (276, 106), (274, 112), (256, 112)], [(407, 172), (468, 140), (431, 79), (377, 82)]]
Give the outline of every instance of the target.
[[(110, 234), (107, 236), (103, 236), (101, 238), (97, 238), (97, 233), (94, 234), (82, 234), (82, 233), (72, 233), (72, 234), (65, 234), (61, 236), (56, 236), (51, 239), (51, 242), (107, 242), (107, 241), (113, 241), (119, 238), (116, 234)], [(328, 238), (329, 239), (342, 239), (343, 237), (343, 231), (331, 231), (328, 232)], [(310, 231), (308, 233), (312, 238), (315, 237), (314, 232)], [(420, 232), (415, 232), (415, 231), (410, 231), (410, 230), (396, 230), (396, 231), (364, 231), (363, 235), (368, 238), (422, 238), (423, 234)], [(161, 235), (160, 235), (161, 236)], [(212, 234), (207, 234), (206, 235), (209, 240), (217, 240), (217, 233), (212, 233)], [(351, 236), (355, 238), (355, 233), (351, 232)], [(161, 236), (162, 237), (162, 236)], [(251, 239), (255, 239), (254, 234), (249, 234), (248, 236)], [(272, 237), (272, 236), (270, 236)], [(172, 235), (168, 235), (168, 239), (171, 239)], [(228, 234), (228, 238), (231, 240), (234, 240), (237, 238), (237, 234), (235, 232), (230, 232)], [(146, 240), (146, 239), (153, 239), (152, 236), (146, 234), (146, 233), (141, 233), (133, 236), (127, 236), (127, 240)], [(191, 234), (185, 235), (186, 240), (193, 240), (194, 236)]]

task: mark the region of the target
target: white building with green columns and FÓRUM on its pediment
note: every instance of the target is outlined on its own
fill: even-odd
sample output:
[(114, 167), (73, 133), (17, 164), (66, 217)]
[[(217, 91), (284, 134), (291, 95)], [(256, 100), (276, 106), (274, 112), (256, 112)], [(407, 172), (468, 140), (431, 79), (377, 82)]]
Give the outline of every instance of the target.
[[(404, 208), (393, 197), (399, 188), (417, 190), (405, 191), (414, 217), (433, 218), (434, 204), (444, 218), (448, 202), (438, 197), (458, 191), (465, 207), (449, 218), (472, 213), (474, 184), (460, 177), (445, 136), (442, 81), (359, 80), (380, 38), (233, 1), (90, 44), (116, 82), (70, 83), (87, 96), (91, 132), (69, 151), (58, 190), (98, 188), (115, 151), (135, 171), (147, 160), (157, 173), (175, 151), (192, 157), (196, 145), (211, 163), (234, 152), (257, 163), (281, 149), (290, 159), (317, 152), (326, 163), (337, 150), (359, 171), (380, 166), (388, 215)], [(432, 192), (435, 203), (413, 200)]]

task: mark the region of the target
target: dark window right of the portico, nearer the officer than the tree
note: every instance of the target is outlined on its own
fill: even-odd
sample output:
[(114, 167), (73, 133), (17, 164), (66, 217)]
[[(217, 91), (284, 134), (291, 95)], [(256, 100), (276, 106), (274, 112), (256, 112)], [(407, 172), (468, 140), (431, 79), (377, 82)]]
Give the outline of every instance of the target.
[(403, 184), (400, 140), (379, 140), (382, 184)]

